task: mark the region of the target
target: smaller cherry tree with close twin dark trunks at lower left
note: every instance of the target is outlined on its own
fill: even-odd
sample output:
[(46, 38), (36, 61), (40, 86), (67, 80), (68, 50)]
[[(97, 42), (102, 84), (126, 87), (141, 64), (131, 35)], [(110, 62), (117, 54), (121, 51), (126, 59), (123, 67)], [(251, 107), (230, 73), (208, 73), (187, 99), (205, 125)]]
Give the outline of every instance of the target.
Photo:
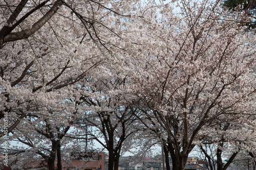
[[(70, 127), (76, 122), (77, 106), (79, 101), (72, 102), (67, 100), (63, 111), (49, 111), (44, 114), (27, 117), (26, 121), (17, 125), (13, 131), (14, 136), (17, 136), (16, 141), (25, 144), (25, 147), (19, 147), (18, 152), (29, 152), (31, 159), (22, 161), (23, 165), (30, 164), (29, 161), (39, 161), (35, 158), (36, 155), (41, 156), (46, 162), (49, 170), (55, 170), (55, 158), (57, 157), (57, 168), (62, 169), (61, 163), (61, 147), (68, 144), (70, 139), (67, 135)], [(29, 132), (24, 129), (26, 127)], [(12, 148), (15, 152), (15, 148)], [(24, 154), (23, 154), (24, 156)]]

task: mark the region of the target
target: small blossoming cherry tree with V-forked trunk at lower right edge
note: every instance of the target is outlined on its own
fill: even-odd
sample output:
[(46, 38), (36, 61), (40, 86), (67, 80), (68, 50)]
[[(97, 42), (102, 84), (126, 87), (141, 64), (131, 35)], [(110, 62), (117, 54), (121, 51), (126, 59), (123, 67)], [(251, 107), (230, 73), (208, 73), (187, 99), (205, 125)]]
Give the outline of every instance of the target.
[[(227, 115), (229, 116), (229, 115)], [(239, 116), (239, 117), (236, 117)], [(215, 121), (215, 125), (205, 128), (204, 141), (200, 145), (201, 152), (207, 158), (208, 164), (214, 167), (216, 160), (217, 170), (226, 170), (230, 164), (236, 160), (239, 153), (251, 153), (253, 155), (255, 143), (255, 120), (251, 119), (250, 114), (232, 115), (230, 119), (219, 119), (221, 122)], [(224, 122), (229, 120), (229, 122)], [(211, 129), (211, 130), (209, 130)], [(209, 133), (211, 132), (211, 133)], [(207, 148), (215, 149), (208, 152)], [(205, 147), (203, 147), (205, 146)], [(223, 164), (222, 157), (228, 158), (226, 164)]]

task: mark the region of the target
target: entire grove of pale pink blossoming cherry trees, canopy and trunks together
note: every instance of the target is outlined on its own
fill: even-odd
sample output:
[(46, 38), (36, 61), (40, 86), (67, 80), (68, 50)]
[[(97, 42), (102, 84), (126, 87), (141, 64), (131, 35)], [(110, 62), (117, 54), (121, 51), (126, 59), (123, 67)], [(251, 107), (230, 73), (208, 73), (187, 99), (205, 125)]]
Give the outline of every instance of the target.
[(23, 144), (9, 146), (9, 161), (22, 154), (17, 168), (44, 159), (54, 170), (57, 158), (61, 170), (61, 147), (77, 152), (76, 141), (90, 139), (118, 170), (145, 136), (162, 142), (173, 170), (197, 145), (217, 148), (218, 170), (225, 146), (255, 155), (256, 37), (245, 31), (253, 13), (221, 0), (177, 6), (178, 14), (153, 0), (1, 2), (0, 140)]

